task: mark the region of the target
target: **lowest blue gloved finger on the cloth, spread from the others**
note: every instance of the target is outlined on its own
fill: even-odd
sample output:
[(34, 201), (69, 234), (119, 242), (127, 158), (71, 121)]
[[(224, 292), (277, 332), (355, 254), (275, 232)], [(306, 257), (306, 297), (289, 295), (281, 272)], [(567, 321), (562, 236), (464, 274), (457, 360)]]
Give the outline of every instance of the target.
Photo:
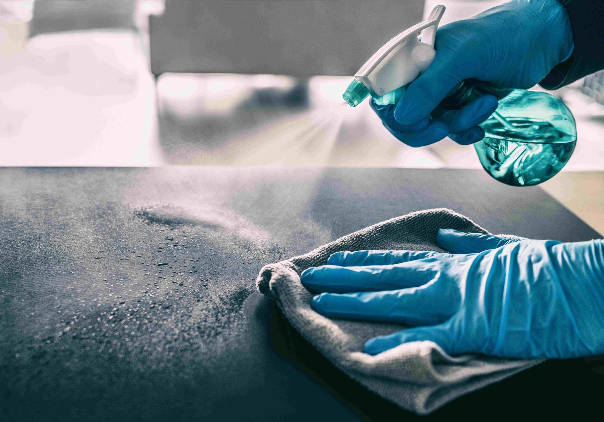
[(432, 341), (442, 348), (447, 354), (454, 354), (452, 330), (449, 324), (433, 325), (432, 327), (415, 327), (398, 331), (387, 336), (374, 337), (365, 342), (363, 351), (367, 354), (376, 355), (403, 343), (417, 341)]

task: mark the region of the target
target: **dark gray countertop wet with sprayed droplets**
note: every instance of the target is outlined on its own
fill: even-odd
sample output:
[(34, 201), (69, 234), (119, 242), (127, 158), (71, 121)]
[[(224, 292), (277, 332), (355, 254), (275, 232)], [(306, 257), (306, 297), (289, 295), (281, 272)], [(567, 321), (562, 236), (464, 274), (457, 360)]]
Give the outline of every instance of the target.
[[(1, 168), (0, 182), (2, 421), (413, 419), (293, 332), (255, 292), (260, 267), (442, 206), (494, 233), (599, 237), (538, 187), (473, 170)], [(548, 362), (431, 418), (588, 407), (599, 365)]]

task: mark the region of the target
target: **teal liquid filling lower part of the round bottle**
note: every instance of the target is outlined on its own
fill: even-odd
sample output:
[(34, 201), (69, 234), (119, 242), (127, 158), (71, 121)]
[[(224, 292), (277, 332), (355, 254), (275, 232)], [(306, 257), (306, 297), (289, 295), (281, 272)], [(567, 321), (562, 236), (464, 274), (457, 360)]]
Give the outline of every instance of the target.
[(576, 135), (556, 129), (548, 121), (507, 117), (516, 130), (496, 118), (481, 124), (485, 138), (474, 144), (478, 158), (497, 181), (533, 186), (554, 176), (573, 154)]

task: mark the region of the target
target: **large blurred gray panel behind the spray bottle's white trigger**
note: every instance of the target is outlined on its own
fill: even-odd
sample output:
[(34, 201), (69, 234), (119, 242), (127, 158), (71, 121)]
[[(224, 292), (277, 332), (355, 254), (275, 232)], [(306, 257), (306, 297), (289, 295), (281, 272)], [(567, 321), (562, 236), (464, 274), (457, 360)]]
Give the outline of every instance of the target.
[(152, 71), (352, 75), (422, 11), (422, 0), (168, 0), (151, 17)]

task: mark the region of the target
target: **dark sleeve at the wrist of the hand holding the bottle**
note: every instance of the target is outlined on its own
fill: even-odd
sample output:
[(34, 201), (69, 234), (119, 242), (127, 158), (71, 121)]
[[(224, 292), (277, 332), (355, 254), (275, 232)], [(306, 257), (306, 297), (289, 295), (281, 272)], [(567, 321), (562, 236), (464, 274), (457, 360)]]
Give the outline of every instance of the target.
[(556, 89), (604, 69), (604, 0), (560, 0), (573, 31), (573, 54), (539, 82)]

